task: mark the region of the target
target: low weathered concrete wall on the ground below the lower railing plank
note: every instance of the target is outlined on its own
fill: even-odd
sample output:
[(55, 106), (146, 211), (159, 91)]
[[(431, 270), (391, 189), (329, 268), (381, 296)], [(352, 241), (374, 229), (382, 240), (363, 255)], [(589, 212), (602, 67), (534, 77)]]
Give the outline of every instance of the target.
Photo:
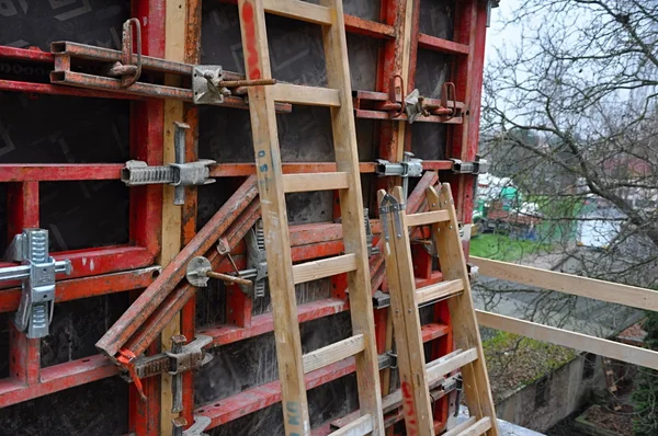
[[(586, 365), (589, 365), (586, 355), (579, 355), (545, 378), (512, 392), (496, 404), (498, 417), (536, 432), (546, 432), (582, 406), (593, 390), (605, 389), (601, 358), (595, 356), (591, 378), (583, 378)], [(542, 397), (545, 399), (543, 403)]]

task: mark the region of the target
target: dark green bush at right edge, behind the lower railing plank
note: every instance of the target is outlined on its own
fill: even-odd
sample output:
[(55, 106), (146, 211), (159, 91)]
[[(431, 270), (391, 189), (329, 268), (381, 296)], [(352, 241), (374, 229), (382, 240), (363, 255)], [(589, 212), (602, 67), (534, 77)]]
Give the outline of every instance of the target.
[[(648, 312), (644, 324), (647, 332), (645, 340), (647, 346), (658, 351), (658, 313)], [(655, 369), (639, 368), (635, 389), (633, 390), (635, 403), (635, 420), (633, 431), (637, 436), (658, 435), (658, 371)]]

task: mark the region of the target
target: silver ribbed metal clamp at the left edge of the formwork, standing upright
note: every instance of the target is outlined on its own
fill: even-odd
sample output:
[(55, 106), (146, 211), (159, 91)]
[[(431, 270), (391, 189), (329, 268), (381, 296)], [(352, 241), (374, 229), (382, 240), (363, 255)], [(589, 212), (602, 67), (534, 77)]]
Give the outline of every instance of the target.
[[(0, 280), (22, 280), (21, 302), (14, 317), (16, 329), (30, 339), (48, 335), (55, 309), (55, 274), (71, 274), (70, 261), (48, 255), (48, 230), (23, 229), (14, 236), (7, 260), (20, 266), (0, 268)], [(49, 306), (49, 307), (48, 307)]]

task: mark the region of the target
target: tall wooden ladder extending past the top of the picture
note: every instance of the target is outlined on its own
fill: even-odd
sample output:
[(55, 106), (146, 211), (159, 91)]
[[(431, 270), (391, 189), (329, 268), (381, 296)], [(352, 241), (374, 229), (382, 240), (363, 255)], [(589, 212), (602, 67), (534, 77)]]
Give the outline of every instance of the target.
[[(239, 0), (240, 27), (247, 78), (271, 79), (265, 12), (322, 26), (329, 88), (277, 83), (249, 88), (249, 111), (260, 193), (274, 337), (286, 435), (310, 435), (304, 375), (354, 356), (361, 416), (334, 435), (383, 435), (382, 395), (356, 133), (341, 0), (320, 5), (298, 0)], [(275, 102), (327, 106), (331, 110), (337, 171), (283, 174)], [(305, 147), (300, 144), (299, 147)], [(344, 254), (293, 265), (285, 194), (338, 190)], [(302, 354), (295, 285), (348, 274), (353, 336), (313, 353)]]

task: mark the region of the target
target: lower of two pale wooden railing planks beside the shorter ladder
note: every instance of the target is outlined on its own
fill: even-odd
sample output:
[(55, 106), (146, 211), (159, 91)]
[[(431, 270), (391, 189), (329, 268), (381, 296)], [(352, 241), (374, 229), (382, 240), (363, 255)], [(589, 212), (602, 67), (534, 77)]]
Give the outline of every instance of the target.
[(518, 320), (502, 314), (477, 311), (480, 325), (503, 330), (533, 340), (561, 345), (581, 352), (594, 353), (612, 359), (658, 369), (658, 352), (626, 345), (619, 342), (589, 336), (564, 329)]

